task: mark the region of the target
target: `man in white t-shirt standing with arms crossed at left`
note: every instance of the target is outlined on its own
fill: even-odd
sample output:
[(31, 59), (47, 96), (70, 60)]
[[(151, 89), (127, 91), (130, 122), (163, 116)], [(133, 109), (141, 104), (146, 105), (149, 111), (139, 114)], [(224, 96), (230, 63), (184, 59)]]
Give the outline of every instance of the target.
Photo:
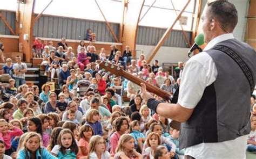
[(16, 62), (14, 64), (14, 77), (15, 77), (15, 86), (16, 88), (19, 85), (25, 84), (25, 73), (26, 73), (26, 63), (21, 62), (21, 56), (16, 56)]

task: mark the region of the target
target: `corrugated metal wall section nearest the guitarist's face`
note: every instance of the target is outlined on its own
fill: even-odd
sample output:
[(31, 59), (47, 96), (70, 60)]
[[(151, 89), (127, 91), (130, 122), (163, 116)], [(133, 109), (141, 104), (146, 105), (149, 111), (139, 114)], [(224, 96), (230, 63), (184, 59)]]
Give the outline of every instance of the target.
[[(157, 45), (165, 33), (165, 29), (139, 26), (137, 34), (138, 45)], [(186, 32), (187, 38), (191, 39), (191, 32)], [(169, 37), (165, 40), (163, 46), (169, 47), (188, 47), (186, 45), (186, 39), (181, 31), (172, 31)]]

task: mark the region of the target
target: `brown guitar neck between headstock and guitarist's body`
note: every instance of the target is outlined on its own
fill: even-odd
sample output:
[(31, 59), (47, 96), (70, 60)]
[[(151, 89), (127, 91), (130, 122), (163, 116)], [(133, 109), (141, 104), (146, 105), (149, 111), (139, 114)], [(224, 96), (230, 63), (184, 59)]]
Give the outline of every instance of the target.
[(164, 90), (161, 90), (157, 86), (149, 84), (149, 83), (145, 82), (143, 79), (133, 76), (124, 70), (122, 70), (122, 76), (137, 85), (140, 85), (140, 83), (144, 83), (146, 85), (147, 91), (152, 92), (152, 93), (164, 98), (167, 101), (170, 100), (170, 93), (168, 93)]

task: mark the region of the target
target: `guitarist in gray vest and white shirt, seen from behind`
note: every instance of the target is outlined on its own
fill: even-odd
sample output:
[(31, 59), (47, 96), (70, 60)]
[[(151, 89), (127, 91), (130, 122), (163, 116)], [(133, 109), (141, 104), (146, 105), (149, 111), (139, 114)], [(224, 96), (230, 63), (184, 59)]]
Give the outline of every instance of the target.
[[(185, 158), (245, 158), (255, 79), (252, 85), (248, 83), (225, 47), (235, 52), (232, 55), (238, 54), (252, 77), (256, 77), (255, 50), (233, 37), (238, 12), (232, 3), (208, 3), (201, 19), (207, 46), (186, 62), (178, 103), (158, 102), (143, 83), (142, 97), (160, 116), (182, 122), (179, 141)], [(216, 46), (224, 49), (213, 49)], [(252, 116), (251, 123), (256, 125)]]

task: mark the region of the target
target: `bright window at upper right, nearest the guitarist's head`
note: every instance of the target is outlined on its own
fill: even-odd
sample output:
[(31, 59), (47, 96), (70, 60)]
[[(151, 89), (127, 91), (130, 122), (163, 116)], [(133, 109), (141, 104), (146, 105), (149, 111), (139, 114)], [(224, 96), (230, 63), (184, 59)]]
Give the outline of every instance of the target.
[[(157, 0), (155, 3), (154, 1), (155, 0), (145, 1), (142, 9), (142, 13), (140, 15), (139, 25), (161, 27), (161, 28), (170, 27), (173, 21), (177, 17), (175, 11), (172, 8), (171, 0)], [(186, 0), (183, 0), (183, 1), (172, 0), (172, 2), (178, 14), (187, 3)], [(152, 8), (150, 8), (152, 4), (153, 6)], [(146, 13), (147, 10), (149, 11)], [(186, 31), (192, 30), (193, 12), (194, 12), (194, 1), (192, 0), (190, 4), (188, 4), (187, 8), (185, 9), (185, 12), (183, 12), (181, 17), (181, 23), (184, 24), (183, 28)], [(173, 29), (181, 30), (179, 21), (177, 21)]]

